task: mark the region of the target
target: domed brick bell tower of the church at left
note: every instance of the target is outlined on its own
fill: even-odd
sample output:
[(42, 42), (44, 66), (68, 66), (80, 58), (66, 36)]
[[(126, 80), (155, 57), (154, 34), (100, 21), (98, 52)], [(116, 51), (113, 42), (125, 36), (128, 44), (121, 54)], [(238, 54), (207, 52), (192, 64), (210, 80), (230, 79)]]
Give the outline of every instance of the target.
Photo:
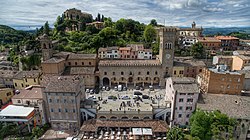
[(52, 42), (49, 39), (48, 35), (44, 34), (40, 38), (41, 48), (42, 48), (42, 57), (43, 61), (50, 59), (53, 55)]

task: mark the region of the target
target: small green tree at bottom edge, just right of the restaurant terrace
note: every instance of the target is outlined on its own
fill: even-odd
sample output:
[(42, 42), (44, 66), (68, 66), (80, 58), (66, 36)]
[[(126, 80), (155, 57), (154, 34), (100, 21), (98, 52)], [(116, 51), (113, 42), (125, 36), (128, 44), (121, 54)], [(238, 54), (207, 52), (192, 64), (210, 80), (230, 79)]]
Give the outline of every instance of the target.
[(167, 133), (167, 140), (183, 140), (184, 132), (181, 128), (172, 127)]

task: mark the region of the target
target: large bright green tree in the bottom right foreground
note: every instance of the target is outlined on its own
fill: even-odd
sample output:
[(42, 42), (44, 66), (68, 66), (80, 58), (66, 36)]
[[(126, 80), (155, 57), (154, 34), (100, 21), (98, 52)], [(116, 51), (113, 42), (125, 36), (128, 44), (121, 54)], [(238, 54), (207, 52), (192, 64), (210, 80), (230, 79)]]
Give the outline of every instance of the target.
[(205, 112), (197, 110), (190, 118), (191, 135), (201, 140), (224, 139), (223, 134), (233, 137), (235, 119), (219, 111)]

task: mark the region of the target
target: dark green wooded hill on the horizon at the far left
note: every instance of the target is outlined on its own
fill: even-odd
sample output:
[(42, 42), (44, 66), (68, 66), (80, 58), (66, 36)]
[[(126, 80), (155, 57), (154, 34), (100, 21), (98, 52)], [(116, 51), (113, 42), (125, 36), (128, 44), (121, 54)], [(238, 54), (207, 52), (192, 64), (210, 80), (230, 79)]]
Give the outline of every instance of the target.
[(30, 37), (30, 33), (28, 32), (15, 30), (6, 25), (0, 25), (0, 43), (16, 44), (28, 37)]

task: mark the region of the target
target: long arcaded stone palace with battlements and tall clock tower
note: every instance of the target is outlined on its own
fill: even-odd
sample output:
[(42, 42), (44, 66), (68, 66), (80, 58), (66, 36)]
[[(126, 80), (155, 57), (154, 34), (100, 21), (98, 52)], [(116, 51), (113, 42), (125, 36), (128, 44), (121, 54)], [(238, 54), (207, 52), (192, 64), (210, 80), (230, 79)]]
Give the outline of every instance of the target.
[[(175, 27), (163, 27), (157, 30), (160, 37), (159, 59), (100, 60), (98, 65), (100, 85), (157, 85), (164, 87), (164, 78), (172, 75), (177, 29)], [(127, 55), (130, 54), (128, 53), (125, 56)]]

